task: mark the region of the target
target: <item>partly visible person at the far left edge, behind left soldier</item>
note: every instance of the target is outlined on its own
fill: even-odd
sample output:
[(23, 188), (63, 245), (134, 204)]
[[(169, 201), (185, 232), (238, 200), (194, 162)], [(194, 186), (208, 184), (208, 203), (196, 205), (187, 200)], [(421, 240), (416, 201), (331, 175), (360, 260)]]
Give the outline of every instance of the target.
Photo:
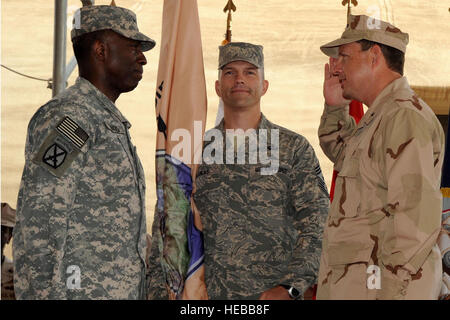
[(16, 210), (2, 202), (2, 300), (14, 300), (14, 264), (3, 254), (5, 245), (11, 241)]

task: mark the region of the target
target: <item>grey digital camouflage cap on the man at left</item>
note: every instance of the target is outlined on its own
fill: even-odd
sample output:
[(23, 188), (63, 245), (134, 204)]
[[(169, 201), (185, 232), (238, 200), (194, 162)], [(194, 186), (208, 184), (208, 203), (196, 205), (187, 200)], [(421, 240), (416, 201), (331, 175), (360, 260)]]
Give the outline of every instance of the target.
[(78, 9), (73, 18), (72, 42), (75, 37), (99, 30), (113, 30), (125, 38), (140, 41), (142, 51), (155, 46), (155, 41), (139, 32), (133, 11), (108, 5), (86, 6)]

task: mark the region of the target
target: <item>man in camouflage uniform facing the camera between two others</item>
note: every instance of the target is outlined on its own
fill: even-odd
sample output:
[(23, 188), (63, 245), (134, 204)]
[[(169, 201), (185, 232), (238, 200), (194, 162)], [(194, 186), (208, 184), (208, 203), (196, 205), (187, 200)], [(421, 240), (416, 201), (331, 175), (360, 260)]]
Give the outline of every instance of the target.
[[(268, 166), (249, 160), (257, 143), (236, 147), (237, 142), (228, 159), (232, 163), (224, 150), (220, 164), (207, 151), (214, 138), (205, 143), (194, 200), (203, 225), (210, 299), (302, 298), (317, 281), (328, 191), (308, 141), (261, 113), (268, 87), (263, 64), (262, 46), (232, 42), (220, 47), (216, 91), (225, 117), (213, 130), (220, 137), (226, 137), (226, 129), (267, 130), (268, 154), (279, 153), (279, 165), (261, 174)], [(277, 133), (279, 139), (272, 140)], [(236, 151), (244, 147), (245, 164), (236, 164)]]

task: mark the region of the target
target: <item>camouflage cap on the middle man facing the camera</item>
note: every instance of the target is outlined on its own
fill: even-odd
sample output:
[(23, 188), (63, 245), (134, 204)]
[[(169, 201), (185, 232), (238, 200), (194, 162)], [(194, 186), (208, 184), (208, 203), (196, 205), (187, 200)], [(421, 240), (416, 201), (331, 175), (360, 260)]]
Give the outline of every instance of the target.
[(264, 67), (263, 46), (248, 42), (230, 42), (219, 47), (219, 69), (233, 61), (246, 61), (258, 69)]

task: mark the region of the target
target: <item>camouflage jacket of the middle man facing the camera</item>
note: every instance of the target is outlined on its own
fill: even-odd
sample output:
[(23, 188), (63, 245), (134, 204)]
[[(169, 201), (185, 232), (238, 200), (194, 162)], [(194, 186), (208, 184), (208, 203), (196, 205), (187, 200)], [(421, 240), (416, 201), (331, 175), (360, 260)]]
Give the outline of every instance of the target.
[[(216, 129), (225, 137), (223, 121)], [(194, 200), (211, 299), (257, 299), (279, 284), (303, 293), (317, 281), (329, 208), (319, 161), (304, 137), (264, 115), (258, 129), (267, 130), (270, 152), (278, 147), (278, 172), (261, 175), (267, 165), (248, 164), (248, 146), (246, 164), (204, 163), (198, 169)], [(278, 146), (271, 143), (272, 130), (279, 130)]]

